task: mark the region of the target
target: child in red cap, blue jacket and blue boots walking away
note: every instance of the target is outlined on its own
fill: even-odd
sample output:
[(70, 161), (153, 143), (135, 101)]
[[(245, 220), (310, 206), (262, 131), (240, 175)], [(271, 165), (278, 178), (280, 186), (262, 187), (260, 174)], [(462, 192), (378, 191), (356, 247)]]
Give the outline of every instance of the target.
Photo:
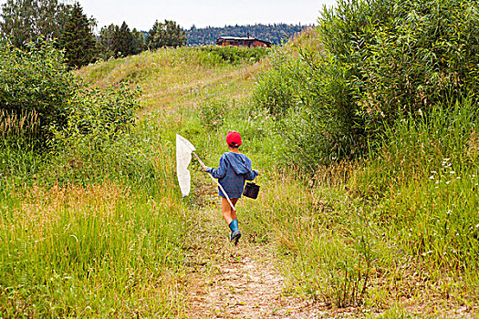
[(258, 175), (257, 170), (251, 170), (251, 160), (245, 154), (239, 152), (239, 147), (243, 143), (240, 133), (236, 131), (228, 132), (226, 143), (229, 152), (224, 153), (220, 159), (220, 166), (217, 170), (203, 166), (203, 170), (212, 174), (213, 178), (218, 179), (220, 185), (224, 188), (226, 194), (218, 188), (218, 195), (222, 197), (221, 207), (224, 221), (231, 230), (230, 241), (237, 244), (241, 232), (238, 228), (238, 219), (236, 211), (231, 207), (226, 195), (230, 198), (233, 205), (241, 198), (245, 188), (245, 180), (255, 180)]

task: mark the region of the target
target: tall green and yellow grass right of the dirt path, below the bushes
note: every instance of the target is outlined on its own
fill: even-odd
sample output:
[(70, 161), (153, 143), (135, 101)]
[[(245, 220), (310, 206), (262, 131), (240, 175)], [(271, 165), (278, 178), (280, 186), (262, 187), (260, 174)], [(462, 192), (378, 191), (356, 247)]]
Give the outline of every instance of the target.
[(476, 304), (476, 112), (439, 106), (398, 121), (370, 160), (263, 179), (245, 224), (281, 252), (289, 289), (339, 307), (448, 300), (432, 315)]

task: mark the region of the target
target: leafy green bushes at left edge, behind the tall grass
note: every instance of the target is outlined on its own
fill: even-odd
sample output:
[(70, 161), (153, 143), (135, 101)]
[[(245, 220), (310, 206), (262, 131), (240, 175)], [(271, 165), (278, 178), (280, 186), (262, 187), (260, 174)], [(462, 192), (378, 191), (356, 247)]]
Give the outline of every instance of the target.
[[(46, 166), (60, 174), (47, 174), (51, 182), (102, 180), (101, 172), (108, 171), (136, 174), (144, 160), (135, 153), (137, 141), (128, 139), (138, 108), (135, 92), (83, 87), (51, 44), (1, 50), (2, 179), (31, 181)], [(130, 151), (123, 154), (121, 147)]]

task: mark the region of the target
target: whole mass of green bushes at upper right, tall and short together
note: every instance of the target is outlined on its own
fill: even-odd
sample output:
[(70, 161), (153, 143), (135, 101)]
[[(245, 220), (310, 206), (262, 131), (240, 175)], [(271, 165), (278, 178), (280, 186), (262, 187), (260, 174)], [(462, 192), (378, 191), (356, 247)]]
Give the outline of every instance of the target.
[(475, 94), (477, 13), (465, 0), (338, 1), (319, 19), (321, 45), (272, 60), (255, 103), (290, 111), (279, 129), (292, 150), (286, 155), (301, 166), (358, 158), (385, 123)]

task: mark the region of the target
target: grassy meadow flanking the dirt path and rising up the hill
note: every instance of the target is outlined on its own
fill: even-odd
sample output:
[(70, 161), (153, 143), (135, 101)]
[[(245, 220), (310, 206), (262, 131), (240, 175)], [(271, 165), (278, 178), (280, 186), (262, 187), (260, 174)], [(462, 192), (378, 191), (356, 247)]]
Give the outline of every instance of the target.
[(405, 116), (363, 156), (308, 170), (290, 154), (285, 123), (258, 107), (258, 83), (286, 81), (276, 62), (318, 47), (317, 32), (258, 57), (169, 48), (80, 69), (99, 91), (138, 90), (134, 126), (114, 139), (100, 132), (38, 152), (10, 118), (25, 134), (1, 127), (0, 314), (188, 317), (194, 227), (218, 207), (194, 161), (182, 199), (174, 138), (215, 166), (234, 129), (262, 173), (258, 200), (241, 203), (245, 237), (274, 252), (285, 293), (353, 317), (477, 316), (474, 100)]

